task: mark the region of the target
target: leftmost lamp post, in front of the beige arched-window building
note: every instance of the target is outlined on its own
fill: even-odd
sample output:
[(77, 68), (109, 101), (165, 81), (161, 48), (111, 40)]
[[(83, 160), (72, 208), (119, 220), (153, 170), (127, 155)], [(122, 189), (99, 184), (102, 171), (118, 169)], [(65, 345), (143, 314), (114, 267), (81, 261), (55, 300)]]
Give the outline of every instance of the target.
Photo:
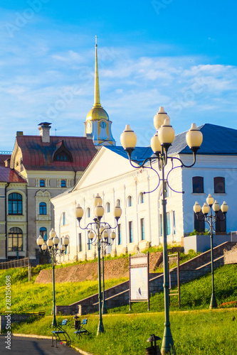
[(58, 247), (59, 244), (59, 238), (56, 235), (56, 231), (52, 228), (51, 231), (49, 232), (49, 238), (47, 242), (45, 242), (42, 238), (42, 236), (38, 236), (36, 239), (36, 243), (39, 246), (40, 250), (42, 250), (44, 253), (48, 251), (50, 257), (51, 257), (51, 263), (53, 266), (53, 327), (57, 327), (57, 321), (56, 321), (56, 302), (55, 302), (55, 264), (56, 264), (56, 255), (63, 255), (66, 250), (67, 246), (69, 245), (69, 238), (68, 236), (63, 237), (62, 244), (60, 245), (60, 248)]

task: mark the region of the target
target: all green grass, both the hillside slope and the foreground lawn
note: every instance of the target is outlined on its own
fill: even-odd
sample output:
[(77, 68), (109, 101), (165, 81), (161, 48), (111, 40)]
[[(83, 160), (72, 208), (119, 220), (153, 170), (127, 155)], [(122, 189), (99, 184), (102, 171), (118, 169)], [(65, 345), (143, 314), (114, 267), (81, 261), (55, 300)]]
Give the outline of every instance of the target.
[[(39, 269), (39, 268), (38, 268)], [(38, 273), (39, 270), (35, 273)], [(11, 275), (11, 310), (13, 312), (37, 312), (44, 310), (46, 317), (15, 324), (12, 332), (51, 335), (52, 284), (28, 283), (27, 269), (10, 269), (0, 272), (0, 312), (5, 311), (5, 280)], [(107, 280), (106, 288), (120, 280)], [(170, 320), (177, 355), (237, 355), (236, 328), (237, 308), (237, 265), (226, 265), (215, 271), (215, 290), (218, 310), (209, 310), (211, 298), (211, 275), (205, 275), (181, 285), (181, 311), (177, 297), (171, 297)], [(56, 283), (56, 304), (69, 305), (98, 292), (97, 281), (83, 283)], [(147, 339), (154, 333), (162, 338), (164, 332), (164, 295), (152, 295), (151, 311), (146, 302), (135, 302), (132, 312), (129, 307), (108, 310), (103, 316), (105, 333), (96, 336), (98, 315), (88, 315), (89, 336), (75, 338), (73, 317), (66, 326), (75, 346), (95, 355), (144, 354)], [(126, 314), (127, 313), (127, 314)], [(233, 317), (236, 320), (233, 320)], [(57, 317), (58, 322), (65, 317)], [(159, 345), (161, 342), (159, 342)]]

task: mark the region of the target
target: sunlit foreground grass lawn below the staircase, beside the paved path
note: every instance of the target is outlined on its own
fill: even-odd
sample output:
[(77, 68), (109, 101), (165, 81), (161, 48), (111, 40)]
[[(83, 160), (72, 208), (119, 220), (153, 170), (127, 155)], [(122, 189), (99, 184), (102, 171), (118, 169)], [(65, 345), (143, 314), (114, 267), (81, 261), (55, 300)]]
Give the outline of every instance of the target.
[[(170, 322), (177, 355), (235, 355), (237, 310), (202, 310), (171, 312)], [(89, 315), (87, 329), (90, 335), (82, 339), (75, 337), (73, 317), (65, 329), (70, 334), (72, 344), (94, 355), (144, 355), (149, 346), (151, 334), (162, 338), (164, 332), (164, 312), (132, 315), (105, 315), (105, 332), (96, 336), (98, 316)], [(58, 322), (63, 317), (57, 317)], [(16, 324), (13, 332), (51, 336), (52, 317), (40, 321)], [(158, 342), (161, 346), (161, 341)]]

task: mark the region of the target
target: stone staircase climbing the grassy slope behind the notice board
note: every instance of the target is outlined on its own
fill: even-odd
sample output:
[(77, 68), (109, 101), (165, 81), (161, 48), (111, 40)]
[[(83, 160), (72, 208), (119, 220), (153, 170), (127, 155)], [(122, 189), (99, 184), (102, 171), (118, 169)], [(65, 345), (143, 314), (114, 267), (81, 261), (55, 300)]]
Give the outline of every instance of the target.
[[(223, 266), (223, 250), (230, 250), (236, 242), (226, 241), (214, 248), (214, 268)], [(199, 278), (206, 273), (211, 272), (211, 250), (201, 253), (186, 263), (179, 266), (180, 283), (187, 283)], [(177, 285), (177, 267), (170, 270), (171, 285)], [(149, 274), (149, 294), (163, 291), (163, 273)], [(105, 290), (105, 300), (107, 308), (121, 307), (128, 305), (130, 301), (129, 280), (119, 285)], [(98, 312), (98, 293), (84, 298), (67, 306), (56, 306), (56, 314), (62, 315), (86, 315), (88, 313)]]

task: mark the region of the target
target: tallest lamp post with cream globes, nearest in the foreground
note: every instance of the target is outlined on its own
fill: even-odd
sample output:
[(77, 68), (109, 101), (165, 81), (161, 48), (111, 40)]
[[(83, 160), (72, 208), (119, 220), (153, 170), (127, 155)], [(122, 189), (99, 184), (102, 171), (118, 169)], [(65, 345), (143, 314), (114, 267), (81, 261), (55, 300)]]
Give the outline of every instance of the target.
[[(180, 167), (191, 168), (196, 163), (196, 152), (201, 146), (202, 143), (202, 133), (199, 129), (196, 128), (196, 124), (191, 125), (191, 129), (186, 133), (186, 143), (188, 144), (189, 148), (193, 152), (194, 161), (191, 165), (185, 165), (180, 158), (177, 157), (169, 157), (168, 150), (169, 147), (172, 145), (174, 141), (174, 129), (170, 125), (170, 119), (167, 113), (164, 111), (164, 107), (160, 107), (157, 114), (154, 116), (154, 127), (157, 130), (154, 136), (151, 139), (151, 148), (154, 152), (154, 155), (150, 158), (146, 158), (143, 160), (141, 164), (133, 165), (132, 164), (132, 151), (135, 150), (135, 146), (137, 143), (137, 136), (132, 129), (130, 129), (130, 125), (125, 127), (125, 131), (120, 136), (120, 141), (122, 147), (127, 152), (127, 155), (130, 159), (130, 164), (133, 168), (149, 168), (154, 170), (157, 173), (159, 182), (157, 187), (159, 186), (160, 181), (162, 181), (162, 226), (163, 226), (163, 253), (164, 253), (164, 315), (165, 315), (165, 322), (164, 322), (164, 337), (162, 340), (162, 355), (163, 354), (170, 354), (170, 350), (172, 349), (175, 354), (174, 349), (174, 341), (172, 338), (172, 332), (170, 329), (170, 322), (169, 322), (169, 265), (168, 265), (168, 251), (167, 251), (167, 212), (166, 212), (166, 205), (167, 200), (164, 195), (164, 182), (167, 181), (167, 185), (171, 190), (168, 178), (169, 173), (177, 166), (174, 167), (174, 161), (178, 160), (181, 165)], [(165, 179), (165, 171), (164, 168), (167, 165), (168, 160), (172, 162), (172, 168), (167, 173), (167, 177)], [(152, 163), (154, 161), (158, 161), (158, 170), (162, 173), (161, 178), (159, 177), (159, 173), (156, 169), (153, 168)], [(149, 163), (149, 166), (147, 166)], [(154, 190), (157, 190), (156, 189)], [(154, 191), (153, 190), (153, 191)], [(151, 192), (153, 192), (151, 191)], [(173, 190), (174, 191), (174, 190)], [(174, 191), (177, 192), (177, 191)], [(146, 192), (145, 192), (146, 193)]]

